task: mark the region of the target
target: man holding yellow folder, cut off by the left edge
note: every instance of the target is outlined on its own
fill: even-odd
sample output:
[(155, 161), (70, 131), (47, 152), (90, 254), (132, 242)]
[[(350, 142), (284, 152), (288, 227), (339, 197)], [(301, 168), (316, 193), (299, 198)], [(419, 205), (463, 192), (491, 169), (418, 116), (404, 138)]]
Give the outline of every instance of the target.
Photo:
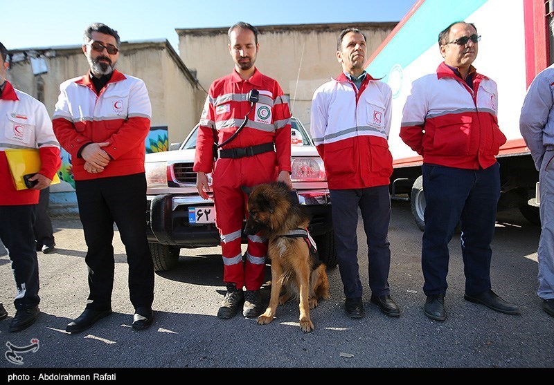
[[(50, 186), (60, 168), (60, 144), (44, 104), (12, 87), (6, 80), (8, 50), (0, 43), (0, 239), (12, 261), (17, 286), (17, 310), (10, 332), (24, 330), (39, 316), (39, 264), (35, 250), (35, 223), (39, 190)], [(41, 167), (35, 186), (17, 190), (6, 150), (39, 149)], [(9, 218), (9, 219), (8, 219)], [(0, 303), (0, 319), (8, 312)]]

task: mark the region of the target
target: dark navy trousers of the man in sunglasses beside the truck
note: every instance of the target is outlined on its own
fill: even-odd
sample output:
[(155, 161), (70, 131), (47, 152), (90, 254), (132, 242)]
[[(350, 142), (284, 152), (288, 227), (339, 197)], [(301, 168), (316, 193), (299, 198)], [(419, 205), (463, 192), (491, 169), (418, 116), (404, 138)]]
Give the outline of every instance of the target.
[(490, 243), (500, 198), (500, 165), (468, 170), (423, 165), (425, 231), (421, 265), (423, 292), (445, 294), (448, 288), (448, 243), (461, 225), (465, 294), (490, 290)]

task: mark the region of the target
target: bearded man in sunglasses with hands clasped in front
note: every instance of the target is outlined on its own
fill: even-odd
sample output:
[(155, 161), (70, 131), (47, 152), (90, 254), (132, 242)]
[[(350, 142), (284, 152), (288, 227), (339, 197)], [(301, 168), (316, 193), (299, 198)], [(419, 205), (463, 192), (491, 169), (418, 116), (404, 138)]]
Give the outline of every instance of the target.
[(111, 314), (114, 223), (129, 263), (132, 327), (148, 328), (154, 317), (154, 267), (144, 227), (145, 138), (152, 107), (144, 82), (115, 69), (119, 46), (117, 31), (105, 24), (84, 30), (82, 51), (90, 71), (61, 84), (53, 116), (55, 135), (71, 155), (88, 247), (90, 292), (84, 312), (66, 327), (71, 333)]

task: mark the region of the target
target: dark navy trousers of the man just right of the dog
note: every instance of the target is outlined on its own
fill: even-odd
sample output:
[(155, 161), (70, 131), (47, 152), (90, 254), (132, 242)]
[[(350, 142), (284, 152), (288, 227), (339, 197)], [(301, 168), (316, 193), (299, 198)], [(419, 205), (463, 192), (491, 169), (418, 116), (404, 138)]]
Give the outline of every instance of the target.
[(368, 245), (369, 288), (381, 297), (391, 293), (388, 271), (391, 249), (388, 224), (391, 222), (391, 197), (388, 186), (365, 189), (330, 190), (335, 246), (346, 298), (361, 297), (358, 270), (358, 209), (364, 220)]

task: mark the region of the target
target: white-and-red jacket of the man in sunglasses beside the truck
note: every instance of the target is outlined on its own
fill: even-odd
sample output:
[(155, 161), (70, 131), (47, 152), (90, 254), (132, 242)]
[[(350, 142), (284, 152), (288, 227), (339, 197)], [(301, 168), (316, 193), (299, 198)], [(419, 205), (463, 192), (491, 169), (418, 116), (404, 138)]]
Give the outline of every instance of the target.
[(400, 138), (425, 163), (486, 169), (494, 165), (506, 143), (497, 111), (497, 84), (492, 79), (474, 72), (471, 89), (443, 63), (436, 74), (413, 82), (402, 113)]

